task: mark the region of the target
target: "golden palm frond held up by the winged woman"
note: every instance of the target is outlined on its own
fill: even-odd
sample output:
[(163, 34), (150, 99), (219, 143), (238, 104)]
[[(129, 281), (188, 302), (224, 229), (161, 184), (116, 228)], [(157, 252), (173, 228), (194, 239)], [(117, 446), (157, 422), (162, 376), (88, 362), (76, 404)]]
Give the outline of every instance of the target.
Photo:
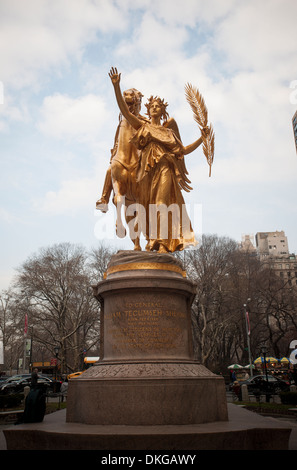
[[(203, 127), (207, 126), (208, 121), (208, 111), (205, 101), (199, 90), (190, 83), (187, 83), (185, 86), (185, 94), (186, 99), (192, 108), (194, 120), (197, 122), (201, 130)], [(212, 124), (209, 124), (208, 136), (205, 138), (202, 134), (202, 140), (203, 153), (209, 165), (209, 176), (211, 176), (211, 166), (214, 159), (214, 130)]]

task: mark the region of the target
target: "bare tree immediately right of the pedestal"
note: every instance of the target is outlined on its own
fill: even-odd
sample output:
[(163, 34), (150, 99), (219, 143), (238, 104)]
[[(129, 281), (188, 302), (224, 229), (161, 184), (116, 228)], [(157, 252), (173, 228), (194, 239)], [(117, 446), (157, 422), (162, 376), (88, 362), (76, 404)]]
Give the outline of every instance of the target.
[(193, 335), (196, 357), (203, 364), (222, 361), (222, 339), (230, 349), (233, 312), (226, 299), (226, 286), (231, 256), (237, 244), (216, 235), (204, 235), (199, 249), (189, 251), (186, 269), (197, 284), (197, 295), (192, 309)]

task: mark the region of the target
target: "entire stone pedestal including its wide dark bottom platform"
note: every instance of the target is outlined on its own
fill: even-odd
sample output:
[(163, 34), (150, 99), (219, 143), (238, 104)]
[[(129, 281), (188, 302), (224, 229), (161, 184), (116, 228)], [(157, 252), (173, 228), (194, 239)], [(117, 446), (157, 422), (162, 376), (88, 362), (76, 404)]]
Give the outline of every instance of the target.
[(288, 449), (290, 426), (227, 408), (224, 380), (193, 359), (195, 288), (173, 256), (120, 252), (94, 292), (100, 361), (69, 381), (67, 410), (7, 426), (8, 450)]

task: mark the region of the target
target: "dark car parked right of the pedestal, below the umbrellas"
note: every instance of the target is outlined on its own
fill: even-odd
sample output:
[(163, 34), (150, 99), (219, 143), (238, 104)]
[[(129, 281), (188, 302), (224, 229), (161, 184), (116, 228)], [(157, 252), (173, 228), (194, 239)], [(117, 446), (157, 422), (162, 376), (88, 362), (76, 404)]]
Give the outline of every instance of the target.
[(247, 385), (248, 392), (254, 395), (265, 393), (276, 395), (280, 392), (290, 390), (290, 384), (284, 380), (274, 377), (273, 375), (268, 375), (267, 379), (266, 375), (255, 375), (241, 382), (241, 386), (243, 384)]

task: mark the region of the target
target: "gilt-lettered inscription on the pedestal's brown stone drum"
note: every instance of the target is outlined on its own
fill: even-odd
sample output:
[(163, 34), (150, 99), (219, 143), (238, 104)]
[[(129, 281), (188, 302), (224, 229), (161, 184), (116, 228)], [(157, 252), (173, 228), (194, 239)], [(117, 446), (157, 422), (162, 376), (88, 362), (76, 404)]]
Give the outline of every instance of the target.
[[(126, 300), (121, 308), (108, 308), (107, 302), (104, 308), (105, 359), (187, 354), (187, 311), (180, 300), (167, 299), (166, 303), (164, 300)], [(110, 303), (117, 302), (113, 298)]]

